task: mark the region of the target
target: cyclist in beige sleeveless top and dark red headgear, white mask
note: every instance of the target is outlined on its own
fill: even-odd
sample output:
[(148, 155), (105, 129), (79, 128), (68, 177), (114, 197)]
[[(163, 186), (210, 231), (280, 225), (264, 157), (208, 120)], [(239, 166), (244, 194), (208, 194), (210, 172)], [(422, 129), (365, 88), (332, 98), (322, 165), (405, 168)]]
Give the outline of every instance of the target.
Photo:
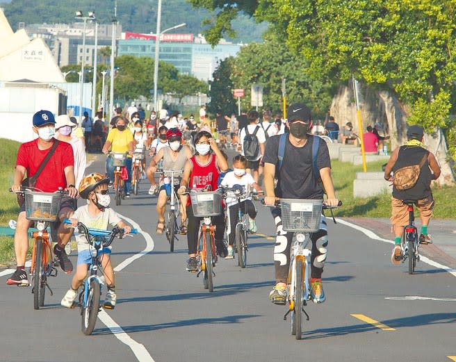
[[(147, 169), (147, 175), (154, 175), (154, 172), (156, 172), (156, 165), (161, 160), (163, 160), (163, 170), (184, 170), (187, 160), (193, 156), (190, 147), (188, 147), (188, 145), (181, 144), (182, 133), (178, 128), (168, 130), (168, 132), (166, 132), (166, 138), (168, 140), (169, 147), (163, 147), (160, 151), (158, 151), (156, 156), (152, 158), (149, 168)], [(181, 176), (177, 179), (178, 181), (174, 181), (176, 192), (177, 188), (179, 188)], [(165, 206), (169, 197), (170, 195), (167, 195), (165, 186), (163, 185), (163, 180), (161, 180), (156, 204), (156, 212), (158, 215), (156, 233), (158, 234), (163, 233), (163, 229), (165, 229)], [(181, 229), (181, 232), (184, 233), (185, 228)]]

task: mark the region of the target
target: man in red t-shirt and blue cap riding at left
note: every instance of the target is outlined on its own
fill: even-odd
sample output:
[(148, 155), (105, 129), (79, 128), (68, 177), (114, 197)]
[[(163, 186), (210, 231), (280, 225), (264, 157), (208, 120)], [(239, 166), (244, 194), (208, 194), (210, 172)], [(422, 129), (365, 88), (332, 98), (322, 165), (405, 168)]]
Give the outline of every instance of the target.
[[(30, 142), (25, 142), (19, 147), (11, 189), (14, 192), (19, 192), (25, 174), (30, 179), (36, 174), (47, 154), (53, 151), (54, 153), (51, 154), (49, 162), (44, 165), (33, 187), (43, 192), (55, 192), (59, 188), (68, 191), (68, 196), (63, 196), (60, 211), (58, 212), (58, 220), (62, 222), (66, 217), (73, 214), (73, 199), (76, 199), (78, 196), (78, 190), (74, 186), (76, 180), (74, 179), (72, 146), (67, 142), (59, 142), (54, 138), (55, 124), (54, 115), (49, 110), (40, 110), (33, 115), (33, 132), (38, 134), (38, 138)], [(54, 146), (55, 142), (58, 142), (56, 146)], [(13, 275), (6, 281), (8, 285), (29, 285), (25, 271), (25, 260), (27, 250), (29, 249), (27, 231), (32, 224), (32, 221), (26, 219), (24, 203), (20, 206), (19, 215), (17, 215), (17, 227), (14, 237), (17, 266)], [(65, 273), (70, 273), (73, 270), (73, 265), (65, 252), (65, 245), (70, 240), (72, 232), (63, 224), (60, 224), (57, 233), (58, 240), (56, 240), (57, 244), (54, 247), (54, 254), (58, 258), (60, 268)]]

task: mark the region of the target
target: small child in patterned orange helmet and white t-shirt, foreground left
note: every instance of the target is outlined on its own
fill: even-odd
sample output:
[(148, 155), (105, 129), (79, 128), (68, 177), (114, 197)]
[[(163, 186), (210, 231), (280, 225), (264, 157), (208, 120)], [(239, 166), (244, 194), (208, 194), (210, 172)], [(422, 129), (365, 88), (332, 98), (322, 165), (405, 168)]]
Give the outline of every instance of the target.
[[(112, 227), (120, 227), (124, 229), (124, 233), (129, 233), (131, 227), (109, 208), (111, 197), (108, 195), (109, 179), (99, 173), (93, 173), (84, 177), (79, 186), (79, 195), (83, 199), (88, 199), (89, 203), (76, 210), (72, 216), (72, 227), (76, 227), (78, 222), (82, 222), (88, 228), (108, 229), (108, 224)], [(71, 308), (74, 299), (78, 294), (78, 288), (83, 283), (87, 276), (87, 272), (92, 263), (89, 243), (86, 236), (79, 234), (76, 236), (78, 242), (78, 261), (76, 273), (72, 279), (71, 288), (67, 291), (62, 299), (61, 304), (67, 308)], [(103, 267), (104, 277), (108, 290), (104, 299), (104, 307), (113, 309), (115, 307), (116, 295), (114, 286), (114, 270), (111, 264), (111, 249), (104, 248), (101, 256), (101, 266)]]

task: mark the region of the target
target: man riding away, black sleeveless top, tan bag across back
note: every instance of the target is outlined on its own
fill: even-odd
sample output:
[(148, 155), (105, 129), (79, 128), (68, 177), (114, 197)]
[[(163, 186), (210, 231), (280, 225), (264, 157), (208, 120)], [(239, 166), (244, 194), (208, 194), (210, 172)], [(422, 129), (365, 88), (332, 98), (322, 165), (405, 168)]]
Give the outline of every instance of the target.
[(425, 159), (418, 179), (412, 188), (407, 190), (393, 188), (391, 224), (393, 224), (394, 230), (394, 248), (391, 262), (396, 265), (401, 261), (400, 239), (404, 232), (404, 226), (409, 223), (407, 205), (402, 200), (416, 200), (416, 207), (420, 211), (421, 219), (419, 242), (420, 244), (432, 243), (432, 239), (428, 235), (428, 225), (434, 209), (431, 181), (437, 180), (441, 171), (434, 154), (425, 149), (423, 137), (424, 131), (421, 126), (409, 126), (409, 129), (407, 129), (407, 142), (391, 153), (384, 170), (384, 178), (387, 181), (393, 181), (391, 172), (396, 172), (402, 167), (419, 165), (421, 160)]

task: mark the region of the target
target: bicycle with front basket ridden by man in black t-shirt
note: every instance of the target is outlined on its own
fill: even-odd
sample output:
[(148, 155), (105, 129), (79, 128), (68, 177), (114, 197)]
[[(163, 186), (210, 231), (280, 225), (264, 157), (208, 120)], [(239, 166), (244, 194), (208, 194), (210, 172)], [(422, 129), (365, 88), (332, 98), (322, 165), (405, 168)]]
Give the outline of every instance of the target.
[[(311, 234), (320, 229), (321, 212), (324, 209), (341, 206), (326, 206), (323, 200), (314, 199), (279, 199), (275, 207), (282, 209), (282, 227), (286, 232), (295, 233), (291, 245), (290, 268), (286, 281), (288, 288), (288, 311), (284, 320), (291, 313), (291, 334), (297, 340), (302, 336), (302, 313), (309, 320), (304, 310), (310, 300), (309, 261), (311, 250), (307, 248)], [(302, 312), (302, 313), (301, 313)]]

